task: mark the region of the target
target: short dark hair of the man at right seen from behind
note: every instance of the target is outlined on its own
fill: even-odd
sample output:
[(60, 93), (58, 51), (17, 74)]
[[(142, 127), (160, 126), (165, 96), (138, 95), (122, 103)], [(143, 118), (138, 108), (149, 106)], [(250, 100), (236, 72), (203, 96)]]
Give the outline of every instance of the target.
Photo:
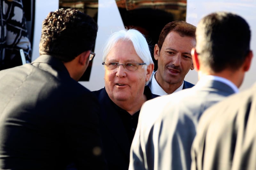
[(240, 16), (215, 12), (205, 16), (196, 28), (196, 51), (204, 67), (213, 72), (236, 70), (250, 51), (251, 31)]

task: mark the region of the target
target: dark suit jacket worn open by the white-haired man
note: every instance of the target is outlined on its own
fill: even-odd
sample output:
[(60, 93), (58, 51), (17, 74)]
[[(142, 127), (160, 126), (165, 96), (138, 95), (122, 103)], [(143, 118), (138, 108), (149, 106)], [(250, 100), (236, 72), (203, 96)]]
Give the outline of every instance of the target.
[[(159, 97), (145, 86), (149, 98)], [(108, 97), (105, 88), (94, 91), (101, 105), (100, 131), (109, 170), (128, 170), (131, 143), (118, 115), (118, 106)], [(120, 108), (121, 109), (121, 108)]]

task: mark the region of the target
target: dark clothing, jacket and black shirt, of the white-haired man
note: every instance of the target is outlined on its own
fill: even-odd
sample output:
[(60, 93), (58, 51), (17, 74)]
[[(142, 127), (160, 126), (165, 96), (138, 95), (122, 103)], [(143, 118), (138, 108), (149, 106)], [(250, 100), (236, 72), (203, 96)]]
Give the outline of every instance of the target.
[[(101, 105), (100, 134), (108, 169), (128, 170), (131, 143), (140, 111), (131, 116), (109, 98), (105, 88), (94, 91), (94, 94), (98, 97)], [(147, 100), (158, 97), (151, 93), (148, 86), (145, 86), (144, 94)]]

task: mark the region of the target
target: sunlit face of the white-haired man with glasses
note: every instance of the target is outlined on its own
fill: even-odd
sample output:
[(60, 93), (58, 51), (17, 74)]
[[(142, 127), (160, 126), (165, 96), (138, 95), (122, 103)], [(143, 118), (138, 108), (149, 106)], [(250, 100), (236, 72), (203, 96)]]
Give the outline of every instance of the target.
[[(131, 41), (119, 40), (107, 55), (106, 62), (143, 63), (137, 55)], [(138, 66), (136, 71), (127, 71), (123, 66), (118, 66), (115, 70), (109, 70), (105, 66), (105, 88), (108, 96), (115, 103), (116, 101), (135, 101), (143, 97), (146, 81), (150, 74), (142, 66)]]

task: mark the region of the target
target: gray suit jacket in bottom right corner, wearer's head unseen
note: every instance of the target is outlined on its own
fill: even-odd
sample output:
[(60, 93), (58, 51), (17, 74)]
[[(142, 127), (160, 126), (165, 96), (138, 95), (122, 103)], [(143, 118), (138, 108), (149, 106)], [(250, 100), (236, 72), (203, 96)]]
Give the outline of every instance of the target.
[(256, 169), (255, 97), (256, 84), (204, 112), (192, 145), (192, 170)]

